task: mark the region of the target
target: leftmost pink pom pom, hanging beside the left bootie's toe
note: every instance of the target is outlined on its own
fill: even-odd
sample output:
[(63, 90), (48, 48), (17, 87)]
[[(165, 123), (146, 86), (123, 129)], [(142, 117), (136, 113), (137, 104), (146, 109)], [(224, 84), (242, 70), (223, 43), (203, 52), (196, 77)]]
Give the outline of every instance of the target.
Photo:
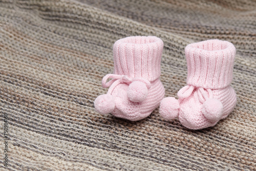
[(95, 110), (102, 114), (108, 114), (115, 109), (115, 97), (110, 94), (102, 94), (94, 100)]

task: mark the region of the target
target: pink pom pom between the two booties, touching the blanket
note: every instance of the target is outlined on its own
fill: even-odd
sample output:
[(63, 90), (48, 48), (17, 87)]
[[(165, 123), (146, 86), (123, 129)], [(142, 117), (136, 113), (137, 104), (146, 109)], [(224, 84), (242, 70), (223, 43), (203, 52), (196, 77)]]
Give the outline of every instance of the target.
[(180, 103), (174, 97), (166, 97), (160, 103), (160, 115), (166, 120), (173, 120), (179, 114)]

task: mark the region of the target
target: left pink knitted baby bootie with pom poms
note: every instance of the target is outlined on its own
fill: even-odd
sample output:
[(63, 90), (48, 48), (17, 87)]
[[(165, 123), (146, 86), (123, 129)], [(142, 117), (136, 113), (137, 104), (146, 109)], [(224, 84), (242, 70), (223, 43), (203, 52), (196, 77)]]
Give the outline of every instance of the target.
[[(155, 36), (133, 36), (115, 42), (114, 74), (102, 79), (107, 94), (94, 101), (100, 114), (140, 120), (150, 115), (164, 97), (159, 80), (163, 41)], [(106, 82), (109, 78), (109, 82)]]

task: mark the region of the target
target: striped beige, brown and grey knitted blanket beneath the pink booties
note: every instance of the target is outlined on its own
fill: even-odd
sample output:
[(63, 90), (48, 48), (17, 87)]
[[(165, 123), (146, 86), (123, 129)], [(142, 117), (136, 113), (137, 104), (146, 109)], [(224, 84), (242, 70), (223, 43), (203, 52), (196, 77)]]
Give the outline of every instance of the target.
[[(1, 138), (3, 114), (10, 125), (1, 170), (255, 170), (255, 1), (0, 2)], [(186, 86), (184, 48), (232, 42), (236, 108), (198, 131), (158, 109), (140, 121), (99, 115), (93, 102), (107, 92), (113, 44), (134, 35), (163, 40), (160, 80), (176, 98)]]

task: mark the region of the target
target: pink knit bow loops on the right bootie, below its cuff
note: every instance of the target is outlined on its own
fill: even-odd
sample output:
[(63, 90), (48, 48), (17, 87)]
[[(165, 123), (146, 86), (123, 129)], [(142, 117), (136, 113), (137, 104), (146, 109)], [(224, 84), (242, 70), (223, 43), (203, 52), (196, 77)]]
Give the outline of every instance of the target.
[[(178, 92), (178, 97), (179, 98), (187, 98), (191, 95), (191, 93), (195, 90), (195, 86), (192, 85), (188, 85), (183, 87), (182, 89), (180, 89), (180, 91)], [(201, 103), (203, 103), (205, 100), (207, 100), (208, 98), (212, 98), (213, 94), (212, 94), (212, 90), (211, 89), (204, 89), (204, 88), (197, 88), (198, 91), (198, 97)]]

